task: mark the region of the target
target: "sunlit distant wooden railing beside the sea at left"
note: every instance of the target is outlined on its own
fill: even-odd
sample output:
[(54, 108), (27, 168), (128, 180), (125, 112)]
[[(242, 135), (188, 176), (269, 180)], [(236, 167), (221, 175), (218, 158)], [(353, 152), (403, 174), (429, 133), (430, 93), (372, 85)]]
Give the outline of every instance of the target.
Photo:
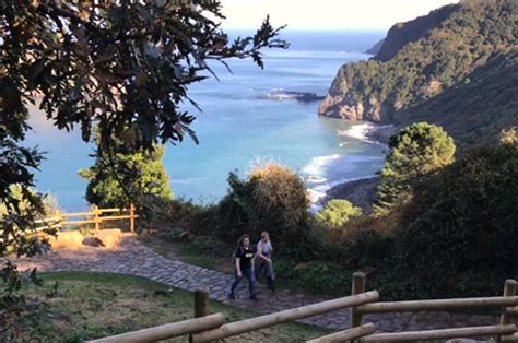
[[(93, 206), (91, 212), (66, 213), (56, 211), (50, 217), (35, 221), (37, 225), (40, 225), (35, 230), (61, 229), (63, 226), (94, 224), (95, 230), (98, 232), (103, 222), (129, 220), (130, 230), (134, 233), (134, 220), (139, 217), (134, 210), (134, 205), (130, 204), (128, 209), (99, 209)], [(105, 215), (106, 213), (115, 213), (116, 215)], [(78, 217), (80, 220), (71, 220)]]

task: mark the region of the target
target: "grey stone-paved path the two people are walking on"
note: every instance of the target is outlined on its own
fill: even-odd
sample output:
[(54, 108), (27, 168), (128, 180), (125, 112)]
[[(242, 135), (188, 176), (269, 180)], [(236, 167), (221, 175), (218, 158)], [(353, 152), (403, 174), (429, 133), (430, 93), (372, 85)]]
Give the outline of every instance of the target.
[[(246, 280), (242, 282), (237, 300), (227, 299), (232, 276), (205, 268), (162, 257), (141, 245), (133, 236), (125, 235), (113, 249), (84, 247), (80, 250), (57, 250), (47, 256), (17, 259), (21, 270), (37, 267), (38, 271), (91, 271), (142, 276), (186, 291), (208, 289), (212, 299), (242, 308), (254, 308), (263, 314), (321, 301), (322, 299), (278, 291), (270, 294), (259, 285), (259, 301), (247, 298)], [(330, 329), (349, 328), (349, 310), (339, 310), (301, 320), (301, 322)], [(407, 331), (451, 327), (486, 326), (497, 323), (496, 317), (449, 312), (379, 314), (365, 316), (380, 331)]]

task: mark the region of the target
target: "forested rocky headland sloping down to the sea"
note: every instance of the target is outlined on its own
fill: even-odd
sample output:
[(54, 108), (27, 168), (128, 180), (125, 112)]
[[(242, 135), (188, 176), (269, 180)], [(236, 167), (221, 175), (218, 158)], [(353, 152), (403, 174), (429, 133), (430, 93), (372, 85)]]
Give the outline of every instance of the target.
[(368, 61), (342, 66), (319, 114), (442, 125), (458, 143), (518, 122), (518, 1), (447, 5), (397, 24)]

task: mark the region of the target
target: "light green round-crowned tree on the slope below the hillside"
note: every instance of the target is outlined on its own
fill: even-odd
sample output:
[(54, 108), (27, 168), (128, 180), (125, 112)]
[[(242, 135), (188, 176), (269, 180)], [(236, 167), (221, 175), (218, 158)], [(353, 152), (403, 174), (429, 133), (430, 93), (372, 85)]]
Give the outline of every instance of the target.
[(389, 149), (376, 190), (377, 213), (404, 202), (427, 176), (452, 163), (456, 147), (443, 128), (417, 122), (392, 135)]

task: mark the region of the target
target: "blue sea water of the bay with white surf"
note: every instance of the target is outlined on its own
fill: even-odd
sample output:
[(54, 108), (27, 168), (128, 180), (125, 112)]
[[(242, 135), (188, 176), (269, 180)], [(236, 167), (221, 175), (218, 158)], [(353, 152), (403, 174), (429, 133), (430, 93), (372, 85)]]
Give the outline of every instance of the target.
[[(236, 33), (233, 33), (236, 34)], [(367, 59), (363, 54), (382, 38), (382, 32), (286, 32), (287, 50), (268, 50), (264, 70), (249, 60), (211, 64), (219, 80), (190, 88), (202, 113), (192, 128), (200, 144), (186, 139), (167, 145), (164, 165), (177, 198), (198, 203), (220, 200), (227, 191), (231, 170), (245, 176), (257, 161), (287, 165), (305, 178), (314, 200), (331, 186), (373, 176), (382, 165), (385, 146), (365, 139), (370, 123), (350, 123), (317, 116), (318, 102), (267, 99), (267, 94), (310, 92), (326, 95), (338, 69)], [(86, 182), (80, 168), (92, 164), (93, 146), (78, 131), (56, 130), (44, 115), (31, 110), (34, 131), (27, 145), (48, 151), (37, 173), (37, 188), (58, 198), (67, 211), (86, 208)]]

